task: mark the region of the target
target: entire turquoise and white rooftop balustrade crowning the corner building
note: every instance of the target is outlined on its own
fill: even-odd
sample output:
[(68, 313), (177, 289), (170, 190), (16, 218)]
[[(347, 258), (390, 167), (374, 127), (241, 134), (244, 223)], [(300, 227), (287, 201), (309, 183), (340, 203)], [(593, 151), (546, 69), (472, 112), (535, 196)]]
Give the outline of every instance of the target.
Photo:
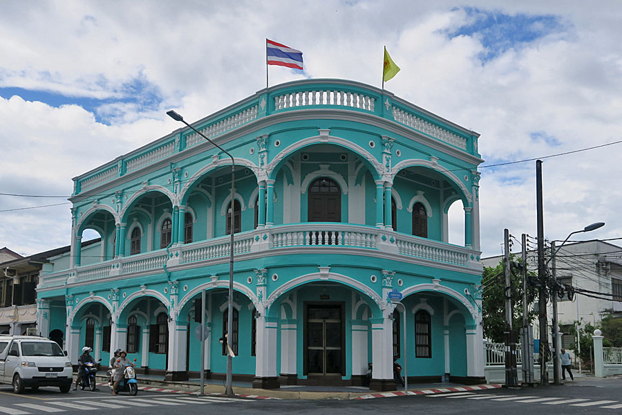
[[(357, 111), (377, 116), (478, 156), (477, 133), (401, 100), (393, 93), (345, 80), (302, 80), (272, 86), (193, 124), (205, 136), (215, 138), (267, 116), (310, 109)], [(190, 129), (173, 131), (168, 136), (77, 176), (73, 179), (73, 196), (93, 190), (115, 178), (139, 172), (154, 163), (165, 163), (165, 160), (203, 142), (205, 139)]]

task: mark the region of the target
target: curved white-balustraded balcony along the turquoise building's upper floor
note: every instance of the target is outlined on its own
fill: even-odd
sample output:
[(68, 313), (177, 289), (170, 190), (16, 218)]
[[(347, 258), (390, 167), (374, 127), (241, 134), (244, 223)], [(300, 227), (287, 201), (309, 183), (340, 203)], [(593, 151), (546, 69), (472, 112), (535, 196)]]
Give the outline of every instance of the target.
[[(41, 275), (39, 290), (62, 287), (64, 284), (101, 281), (109, 277), (149, 275), (161, 269), (164, 264), (169, 270), (182, 264), (209, 266), (229, 257), (229, 236), (208, 241), (173, 246), (167, 250), (144, 252), (130, 257), (119, 257), (110, 261), (82, 266), (73, 270)], [(241, 232), (234, 237), (234, 255), (241, 261), (255, 252), (291, 251), (292, 253), (314, 253), (326, 250), (346, 255), (368, 255), (391, 259), (402, 257), (420, 261), (426, 266), (445, 266), (464, 272), (481, 272), (480, 252), (413, 237), (393, 231), (381, 230), (365, 225), (346, 223), (295, 223), (276, 225), (265, 229)]]

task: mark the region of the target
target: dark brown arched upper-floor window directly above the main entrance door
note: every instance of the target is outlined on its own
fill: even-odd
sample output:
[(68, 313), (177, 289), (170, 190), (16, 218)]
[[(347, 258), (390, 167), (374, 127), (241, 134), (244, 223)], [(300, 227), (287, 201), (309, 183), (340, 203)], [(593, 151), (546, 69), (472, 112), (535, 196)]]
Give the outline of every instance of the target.
[(317, 178), (309, 186), (307, 221), (341, 222), (341, 188), (332, 178)]

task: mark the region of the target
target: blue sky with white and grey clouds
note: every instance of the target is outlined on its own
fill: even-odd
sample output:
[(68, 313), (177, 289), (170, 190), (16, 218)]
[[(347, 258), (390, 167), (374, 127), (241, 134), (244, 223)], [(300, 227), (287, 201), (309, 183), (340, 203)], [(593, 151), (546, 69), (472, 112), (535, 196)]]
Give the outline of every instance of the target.
[[(381, 84), (481, 134), (482, 256), (503, 230), (536, 236), (543, 158), (545, 237), (622, 237), (619, 1), (3, 1), (0, 12), (0, 248), (67, 246), (71, 178), (265, 87), (265, 38), (303, 52), (270, 85), (304, 78)], [(587, 147), (563, 156), (547, 157)], [(544, 158), (547, 157), (547, 158)], [(35, 208), (42, 205), (55, 205)], [(32, 208), (32, 209), (24, 209)], [(19, 209), (19, 210), (18, 210)], [(462, 243), (461, 207), (450, 241)], [(87, 238), (88, 239), (88, 238)], [(84, 239), (83, 239), (84, 240)], [(621, 241), (612, 240), (612, 243)], [(518, 243), (513, 251), (520, 251)]]

